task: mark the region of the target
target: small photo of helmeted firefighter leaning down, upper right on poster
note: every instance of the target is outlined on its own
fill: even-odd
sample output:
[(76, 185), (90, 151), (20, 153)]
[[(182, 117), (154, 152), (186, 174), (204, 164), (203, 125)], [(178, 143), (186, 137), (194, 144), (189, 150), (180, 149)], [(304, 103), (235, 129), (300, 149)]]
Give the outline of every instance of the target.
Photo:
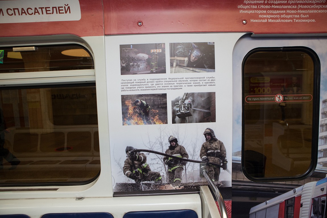
[(215, 72), (214, 42), (170, 43), (170, 73)]

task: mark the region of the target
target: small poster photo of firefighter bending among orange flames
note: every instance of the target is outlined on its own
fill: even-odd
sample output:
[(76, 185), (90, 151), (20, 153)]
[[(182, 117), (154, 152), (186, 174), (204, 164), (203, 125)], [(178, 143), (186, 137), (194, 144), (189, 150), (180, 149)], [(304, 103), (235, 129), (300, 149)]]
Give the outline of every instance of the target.
[(167, 124), (167, 94), (122, 95), (123, 126)]

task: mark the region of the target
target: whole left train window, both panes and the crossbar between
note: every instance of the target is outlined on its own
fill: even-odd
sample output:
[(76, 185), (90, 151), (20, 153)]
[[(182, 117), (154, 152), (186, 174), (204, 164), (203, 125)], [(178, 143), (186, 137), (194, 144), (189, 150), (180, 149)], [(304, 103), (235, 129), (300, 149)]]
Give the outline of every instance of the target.
[[(0, 186), (93, 181), (100, 172), (95, 83), (52, 80), (94, 75), (91, 52), (64, 42), (0, 51), (2, 79), (23, 84), (0, 88)], [(43, 77), (51, 85), (28, 84)]]

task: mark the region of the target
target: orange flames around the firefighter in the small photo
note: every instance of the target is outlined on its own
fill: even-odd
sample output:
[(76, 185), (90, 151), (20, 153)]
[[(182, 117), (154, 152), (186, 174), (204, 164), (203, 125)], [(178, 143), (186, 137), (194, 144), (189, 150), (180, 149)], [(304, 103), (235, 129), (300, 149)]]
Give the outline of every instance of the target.
[[(124, 126), (126, 125), (145, 125), (145, 124), (165, 124), (165, 122), (159, 119), (159, 115), (157, 114), (158, 110), (150, 110), (149, 113), (149, 121), (146, 122), (142, 116), (139, 114), (136, 106), (133, 105), (132, 100), (125, 101), (125, 105), (127, 105), (127, 117), (124, 118)], [(151, 116), (152, 115), (152, 116)]]

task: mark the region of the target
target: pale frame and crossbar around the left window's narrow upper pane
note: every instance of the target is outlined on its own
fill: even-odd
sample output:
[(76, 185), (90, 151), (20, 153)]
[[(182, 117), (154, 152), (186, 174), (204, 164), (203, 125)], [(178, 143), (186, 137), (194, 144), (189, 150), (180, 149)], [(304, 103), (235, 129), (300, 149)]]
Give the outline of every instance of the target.
[(2, 73), (0, 77), (0, 87), (22, 85), (29, 86), (31, 84), (94, 83), (96, 67), (94, 53), (91, 46), (77, 36), (67, 34), (57, 36), (9, 37), (2, 38), (0, 41), (0, 47), (26, 47), (65, 44), (77, 44), (89, 51), (94, 60), (94, 69)]

